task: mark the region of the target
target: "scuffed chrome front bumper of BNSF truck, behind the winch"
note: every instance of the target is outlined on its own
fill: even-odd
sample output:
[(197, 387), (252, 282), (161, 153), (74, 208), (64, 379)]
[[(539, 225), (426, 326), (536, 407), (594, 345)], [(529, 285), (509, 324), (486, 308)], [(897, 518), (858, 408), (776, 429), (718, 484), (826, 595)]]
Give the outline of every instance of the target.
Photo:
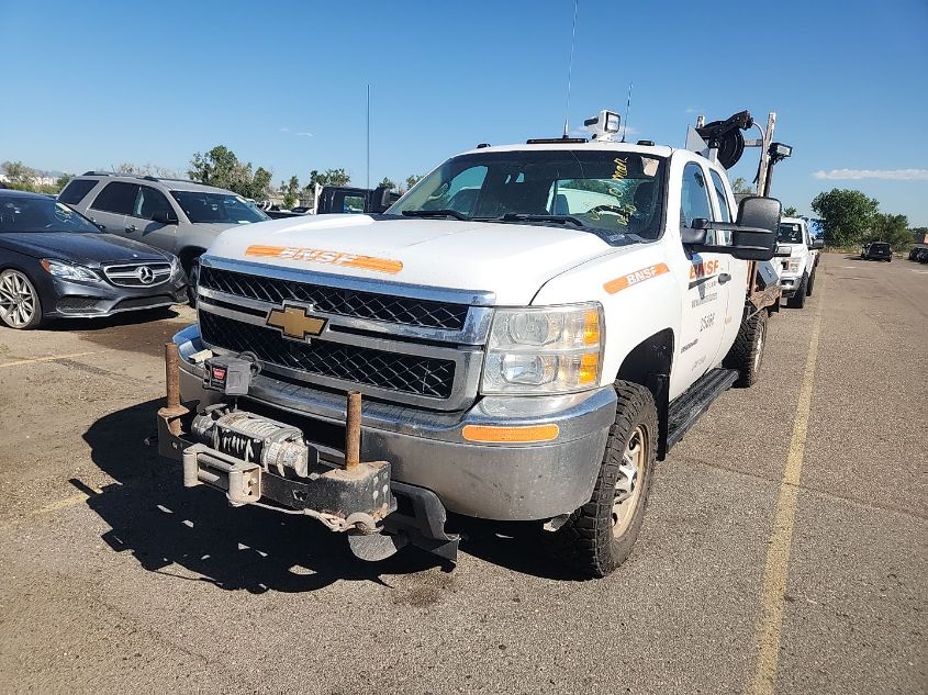
[[(181, 358), (182, 401), (197, 402), (199, 410), (219, 402), (222, 395), (203, 389), (204, 370), (190, 359), (202, 349), (199, 328), (190, 326), (174, 340)], [(434, 492), (458, 514), (547, 519), (590, 500), (615, 405), (612, 388), (560, 396), (484, 396), (460, 413), (368, 400), (361, 418), (361, 460), (388, 461), (391, 480)], [(344, 395), (260, 374), (239, 407), (300, 427), (324, 459), (344, 460), (335, 444), (344, 440)], [(472, 441), (463, 435), (468, 426), (550, 425), (557, 426), (556, 436), (544, 441)]]

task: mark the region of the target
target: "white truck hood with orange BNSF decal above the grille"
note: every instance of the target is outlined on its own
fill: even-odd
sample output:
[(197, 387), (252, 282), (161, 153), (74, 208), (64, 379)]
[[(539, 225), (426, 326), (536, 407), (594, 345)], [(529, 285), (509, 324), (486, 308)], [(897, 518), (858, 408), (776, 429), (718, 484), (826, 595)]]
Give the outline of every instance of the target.
[(616, 250), (571, 228), (338, 214), (228, 229), (208, 253), (384, 282), (491, 291), (496, 304), (525, 305), (555, 276)]

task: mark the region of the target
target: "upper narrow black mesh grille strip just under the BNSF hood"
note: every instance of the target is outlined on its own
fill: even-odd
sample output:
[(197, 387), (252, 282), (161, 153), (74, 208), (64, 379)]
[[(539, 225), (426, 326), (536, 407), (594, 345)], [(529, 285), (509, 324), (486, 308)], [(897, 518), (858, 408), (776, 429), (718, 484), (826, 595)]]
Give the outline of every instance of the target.
[(467, 318), (466, 304), (448, 304), (360, 290), (329, 288), (279, 278), (265, 278), (203, 266), (204, 288), (251, 300), (281, 304), (284, 301), (312, 304), (316, 311), (369, 318), (406, 326), (460, 330)]

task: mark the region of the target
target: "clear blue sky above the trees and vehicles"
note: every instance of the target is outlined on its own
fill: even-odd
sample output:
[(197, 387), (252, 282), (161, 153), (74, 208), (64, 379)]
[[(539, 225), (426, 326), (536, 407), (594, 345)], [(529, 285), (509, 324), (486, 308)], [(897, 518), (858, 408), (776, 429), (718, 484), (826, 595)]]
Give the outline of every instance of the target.
[[(928, 225), (928, 2), (580, 0), (570, 122), (624, 113), (681, 146), (697, 113), (778, 113), (773, 193), (809, 213), (857, 188)], [(613, 11), (606, 11), (612, 8)], [(769, 14), (765, 14), (769, 12)], [(0, 160), (183, 171), (216, 144), (275, 181), (403, 180), (480, 142), (559, 135), (573, 0), (0, 0)], [(753, 177), (748, 150), (733, 176)], [(748, 160), (750, 160), (748, 162)]]

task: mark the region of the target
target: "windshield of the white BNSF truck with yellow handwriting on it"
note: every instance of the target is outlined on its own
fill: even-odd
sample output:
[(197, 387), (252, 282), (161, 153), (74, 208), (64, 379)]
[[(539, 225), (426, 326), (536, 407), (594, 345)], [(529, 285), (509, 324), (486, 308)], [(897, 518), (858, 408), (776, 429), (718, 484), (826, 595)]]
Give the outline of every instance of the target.
[(657, 238), (663, 168), (663, 157), (620, 150), (473, 153), (443, 164), (387, 214), (569, 222), (610, 234)]

